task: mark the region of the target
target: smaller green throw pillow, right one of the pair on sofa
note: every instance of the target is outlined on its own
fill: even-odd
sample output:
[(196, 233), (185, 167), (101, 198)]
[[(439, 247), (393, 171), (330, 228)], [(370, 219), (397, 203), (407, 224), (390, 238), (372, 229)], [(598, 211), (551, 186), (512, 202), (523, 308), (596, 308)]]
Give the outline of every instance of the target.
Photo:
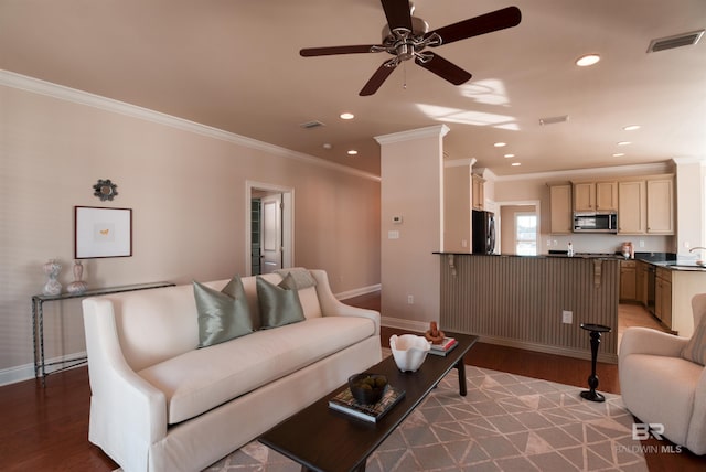
[(278, 286), (261, 277), (258, 277), (255, 283), (260, 307), (260, 325), (264, 330), (304, 320), (299, 292), (293, 288), (291, 276), (285, 277)]

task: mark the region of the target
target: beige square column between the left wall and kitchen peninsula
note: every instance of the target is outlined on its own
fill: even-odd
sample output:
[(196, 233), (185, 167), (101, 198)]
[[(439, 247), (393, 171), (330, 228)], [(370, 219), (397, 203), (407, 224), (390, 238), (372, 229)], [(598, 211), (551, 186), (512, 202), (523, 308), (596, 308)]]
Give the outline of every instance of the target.
[[(442, 136), (430, 127), (386, 137), (381, 142), (382, 312), (384, 323), (439, 318), (439, 256), (442, 248)], [(402, 216), (394, 224), (393, 216)], [(399, 237), (389, 238), (389, 232)], [(411, 296), (414, 303), (408, 303)], [(424, 325), (424, 323), (422, 323)]]

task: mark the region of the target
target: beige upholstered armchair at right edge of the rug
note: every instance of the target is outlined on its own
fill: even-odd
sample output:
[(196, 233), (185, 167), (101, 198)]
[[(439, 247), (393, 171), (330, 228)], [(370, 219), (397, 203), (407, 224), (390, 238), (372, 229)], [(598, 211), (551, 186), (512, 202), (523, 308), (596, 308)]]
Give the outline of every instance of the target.
[[(703, 346), (706, 330), (699, 330), (699, 321), (706, 313), (706, 293), (692, 299), (692, 309), (694, 336), (700, 336)], [(706, 453), (706, 368), (684, 358), (688, 343), (689, 339), (648, 328), (625, 330), (618, 354), (620, 390), (639, 421), (662, 425), (662, 436), (700, 455)]]

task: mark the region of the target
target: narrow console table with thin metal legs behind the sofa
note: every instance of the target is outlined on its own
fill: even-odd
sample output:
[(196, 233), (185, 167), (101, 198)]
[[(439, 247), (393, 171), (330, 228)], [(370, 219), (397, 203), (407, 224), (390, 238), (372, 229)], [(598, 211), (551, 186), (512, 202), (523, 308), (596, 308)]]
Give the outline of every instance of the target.
[[(161, 287), (173, 287), (172, 282), (150, 282), (150, 283), (136, 283), (131, 286), (120, 287), (106, 287), (101, 289), (86, 290), (83, 293), (60, 293), (57, 296), (35, 294), (32, 297), (32, 343), (34, 346), (34, 377), (42, 378), (42, 386), (46, 386), (46, 376), (56, 372), (65, 371), (67, 368), (76, 367), (77, 365), (85, 364), (86, 356), (79, 356), (68, 360), (45, 362), (44, 360), (44, 303), (50, 301), (68, 300), (72, 298), (85, 298), (97, 297), (103, 294), (130, 292), (135, 290), (158, 289)], [(39, 337), (39, 346), (38, 346)], [(63, 367), (54, 369), (50, 373), (46, 372), (46, 367), (50, 365), (64, 364)], [(69, 364), (69, 365), (66, 365)]]

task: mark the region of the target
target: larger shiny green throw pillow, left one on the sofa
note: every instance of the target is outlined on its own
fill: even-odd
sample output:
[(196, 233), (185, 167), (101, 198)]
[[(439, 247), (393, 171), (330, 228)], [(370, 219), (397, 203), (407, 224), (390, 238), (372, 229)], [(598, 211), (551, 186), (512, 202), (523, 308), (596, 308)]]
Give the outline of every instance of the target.
[(212, 346), (252, 333), (253, 319), (239, 277), (222, 291), (194, 281), (199, 312), (199, 347)]

